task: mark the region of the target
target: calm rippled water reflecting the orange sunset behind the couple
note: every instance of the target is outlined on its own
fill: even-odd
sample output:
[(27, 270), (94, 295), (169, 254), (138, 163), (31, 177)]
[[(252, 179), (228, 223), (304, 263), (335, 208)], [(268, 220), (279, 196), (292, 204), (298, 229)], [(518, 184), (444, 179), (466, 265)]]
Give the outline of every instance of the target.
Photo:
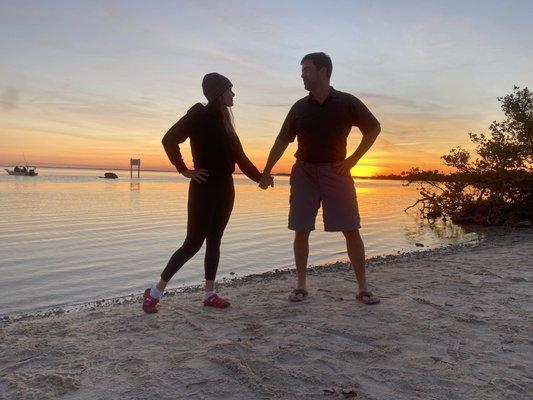
[[(2, 172), (4, 172), (2, 170)], [(99, 179), (104, 171), (39, 169), (38, 177), (0, 175), (0, 315), (140, 293), (185, 237), (188, 180), (144, 172)], [(286, 228), (289, 185), (266, 192), (235, 175), (236, 200), (218, 278), (293, 266)], [(367, 256), (477, 240), (452, 225), (429, 227), (403, 212), (416, 190), (393, 181), (356, 181)], [(309, 262), (347, 259), (342, 234), (317, 219)], [(199, 284), (203, 249), (169, 285)]]

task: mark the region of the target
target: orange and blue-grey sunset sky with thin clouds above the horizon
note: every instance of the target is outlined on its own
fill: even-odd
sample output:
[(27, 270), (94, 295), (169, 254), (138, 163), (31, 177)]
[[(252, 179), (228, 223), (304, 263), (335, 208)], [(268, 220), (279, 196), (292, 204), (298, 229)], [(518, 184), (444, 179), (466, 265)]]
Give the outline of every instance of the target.
[[(468, 132), (533, 88), (531, 1), (0, 0), (0, 165), (171, 169), (161, 137), (203, 102), (201, 80), (234, 83), (237, 132), (262, 169), (299, 62), (324, 51), (332, 85), (382, 124), (355, 175), (443, 168)], [(349, 151), (360, 140), (354, 128)], [(296, 145), (275, 172), (287, 172)], [(190, 164), (188, 142), (184, 144)]]

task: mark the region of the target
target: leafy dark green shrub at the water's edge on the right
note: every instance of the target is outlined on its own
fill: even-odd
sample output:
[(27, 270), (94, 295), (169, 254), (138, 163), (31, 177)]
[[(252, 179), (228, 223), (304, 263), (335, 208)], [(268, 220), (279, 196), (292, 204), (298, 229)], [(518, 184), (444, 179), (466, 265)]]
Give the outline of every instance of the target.
[(533, 220), (533, 93), (515, 86), (498, 100), (506, 119), (494, 121), (488, 135), (469, 133), (476, 158), (456, 147), (441, 157), (452, 174), (402, 173), (407, 185), (419, 186), (421, 198), (413, 206), (420, 205), (422, 217), (484, 225)]

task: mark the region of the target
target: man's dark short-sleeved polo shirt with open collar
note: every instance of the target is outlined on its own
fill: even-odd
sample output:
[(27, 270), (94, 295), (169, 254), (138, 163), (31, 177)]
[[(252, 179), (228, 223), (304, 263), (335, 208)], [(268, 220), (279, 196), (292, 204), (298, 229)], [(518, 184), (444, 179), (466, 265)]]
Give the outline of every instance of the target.
[(346, 140), (352, 126), (363, 135), (379, 125), (357, 97), (333, 88), (320, 104), (311, 94), (298, 100), (287, 114), (278, 140), (298, 138), (297, 159), (310, 163), (331, 163), (346, 158)]

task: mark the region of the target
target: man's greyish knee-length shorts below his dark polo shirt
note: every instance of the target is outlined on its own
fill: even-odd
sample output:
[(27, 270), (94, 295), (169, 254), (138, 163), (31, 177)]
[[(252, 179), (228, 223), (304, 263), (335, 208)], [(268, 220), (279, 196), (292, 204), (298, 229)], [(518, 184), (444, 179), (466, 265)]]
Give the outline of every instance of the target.
[(291, 171), (289, 229), (312, 231), (320, 205), (327, 232), (361, 228), (353, 178), (339, 175), (332, 164), (297, 160)]

